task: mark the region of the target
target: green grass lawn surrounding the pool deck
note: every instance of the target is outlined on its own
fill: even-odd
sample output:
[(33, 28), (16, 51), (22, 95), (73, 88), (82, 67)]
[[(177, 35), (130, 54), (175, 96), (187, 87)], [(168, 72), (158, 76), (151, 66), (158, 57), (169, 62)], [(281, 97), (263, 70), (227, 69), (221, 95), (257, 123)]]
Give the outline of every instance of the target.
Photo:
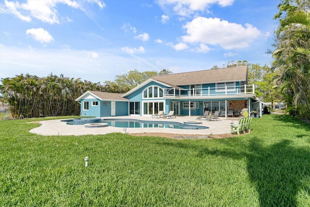
[(35, 120), (0, 122), (0, 206), (310, 206), (310, 124), (291, 116), (214, 140), (40, 136)]

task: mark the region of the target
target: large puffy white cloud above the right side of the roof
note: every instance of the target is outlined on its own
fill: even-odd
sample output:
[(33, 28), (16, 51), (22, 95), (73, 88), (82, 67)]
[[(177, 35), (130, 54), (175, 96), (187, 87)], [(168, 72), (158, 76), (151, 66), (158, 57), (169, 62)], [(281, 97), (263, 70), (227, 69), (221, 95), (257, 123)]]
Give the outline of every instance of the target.
[(197, 17), (187, 22), (183, 28), (187, 33), (182, 36), (185, 43), (220, 45), (224, 49), (246, 48), (261, 35), (261, 32), (250, 24), (243, 27), (219, 18)]

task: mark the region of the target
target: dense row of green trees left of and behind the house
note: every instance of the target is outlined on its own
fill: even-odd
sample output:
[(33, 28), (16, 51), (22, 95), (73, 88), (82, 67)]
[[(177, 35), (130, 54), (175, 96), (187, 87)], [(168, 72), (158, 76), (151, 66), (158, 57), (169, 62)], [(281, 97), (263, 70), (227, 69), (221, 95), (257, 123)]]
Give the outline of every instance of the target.
[(1, 79), (0, 101), (9, 103), (13, 118), (79, 115), (80, 104), (75, 99), (88, 90), (123, 94), (152, 76), (169, 73), (171, 72), (167, 70), (159, 73), (131, 70), (127, 74), (116, 76), (115, 81), (105, 81), (104, 84), (63, 75), (50, 74), (40, 78), (20, 74)]

